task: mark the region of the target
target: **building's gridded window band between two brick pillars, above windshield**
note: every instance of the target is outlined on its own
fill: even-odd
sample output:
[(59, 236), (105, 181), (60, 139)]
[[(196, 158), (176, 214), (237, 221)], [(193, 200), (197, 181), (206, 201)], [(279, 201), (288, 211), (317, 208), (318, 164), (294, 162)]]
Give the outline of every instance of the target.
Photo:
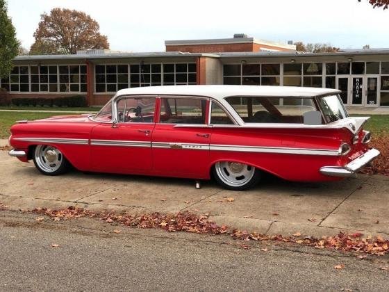
[(96, 65), (94, 78), (96, 92), (197, 83), (195, 63)]

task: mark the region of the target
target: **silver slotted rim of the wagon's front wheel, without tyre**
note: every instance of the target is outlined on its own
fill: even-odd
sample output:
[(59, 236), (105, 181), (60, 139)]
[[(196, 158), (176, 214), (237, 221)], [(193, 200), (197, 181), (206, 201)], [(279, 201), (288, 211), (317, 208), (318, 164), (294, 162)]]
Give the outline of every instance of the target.
[(63, 161), (62, 153), (52, 146), (38, 145), (35, 148), (35, 161), (45, 172), (55, 172)]

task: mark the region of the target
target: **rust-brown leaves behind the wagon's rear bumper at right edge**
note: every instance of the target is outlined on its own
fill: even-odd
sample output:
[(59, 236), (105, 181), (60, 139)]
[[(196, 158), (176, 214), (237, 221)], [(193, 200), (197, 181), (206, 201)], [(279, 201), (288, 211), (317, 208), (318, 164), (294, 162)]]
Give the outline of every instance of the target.
[(372, 166), (363, 168), (361, 172), (369, 175), (389, 175), (389, 135), (373, 136), (369, 145), (378, 149), (381, 155), (372, 161)]

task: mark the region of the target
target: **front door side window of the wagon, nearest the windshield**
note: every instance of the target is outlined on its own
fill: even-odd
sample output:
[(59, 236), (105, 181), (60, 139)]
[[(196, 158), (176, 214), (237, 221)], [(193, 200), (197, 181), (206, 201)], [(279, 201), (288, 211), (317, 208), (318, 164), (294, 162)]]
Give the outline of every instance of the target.
[(117, 122), (154, 122), (155, 97), (126, 97), (117, 102)]

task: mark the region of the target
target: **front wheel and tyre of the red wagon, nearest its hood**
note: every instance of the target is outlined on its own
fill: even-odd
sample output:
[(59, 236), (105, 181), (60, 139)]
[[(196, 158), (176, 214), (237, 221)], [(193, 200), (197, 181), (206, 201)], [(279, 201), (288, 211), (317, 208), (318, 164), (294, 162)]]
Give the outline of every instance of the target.
[(33, 153), (35, 167), (44, 175), (61, 175), (69, 170), (69, 161), (56, 147), (38, 145)]

